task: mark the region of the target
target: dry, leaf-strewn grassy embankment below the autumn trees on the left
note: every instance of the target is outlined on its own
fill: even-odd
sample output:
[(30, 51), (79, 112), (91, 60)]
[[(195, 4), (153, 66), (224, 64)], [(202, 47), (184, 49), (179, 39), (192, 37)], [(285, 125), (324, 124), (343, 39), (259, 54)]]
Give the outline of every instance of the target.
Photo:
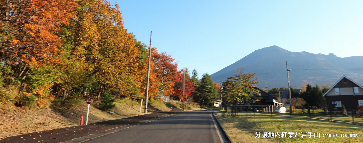
[[(181, 110), (180, 105), (171, 101), (168, 103), (163, 101), (150, 101), (148, 112)], [(143, 115), (144, 106), (142, 107), (141, 114), (139, 114), (140, 102), (131, 99), (117, 99), (116, 107), (111, 109), (115, 112), (110, 114), (109, 111), (99, 110), (98, 101), (92, 103), (90, 106), (88, 123), (101, 122), (104, 120), (127, 118), (137, 115)], [(173, 109), (170, 107), (174, 106)], [(187, 105), (189, 110), (198, 110), (197, 106)], [(72, 114), (73, 113), (73, 114)], [(26, 134), (29, 132), (37, 132), (44, 130), (51, 130), (62, 127), (70, 127), (79, 125), (80, 116), (84, 116), (86, 123), (87, 104), (82, 101), (73, 107), (64, 106), (61, 104), (53, 103), (53, 106), (47, 109), (24, 109), (16, 107), (9, 103), (0, 103), (0, 138), (7, 136), (15, 136)]]

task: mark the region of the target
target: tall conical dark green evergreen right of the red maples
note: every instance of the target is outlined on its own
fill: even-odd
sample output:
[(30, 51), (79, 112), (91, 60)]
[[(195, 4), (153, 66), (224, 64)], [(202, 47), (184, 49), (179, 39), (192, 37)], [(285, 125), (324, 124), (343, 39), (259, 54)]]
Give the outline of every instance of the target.
[(208, 73), (203, 74), (200, 85), (196, 88), (196, 92), (197, 96), (194, 98), (194, 100), (201, 103), (201, 105), (213, 103), (218, 98), (217, 88)]

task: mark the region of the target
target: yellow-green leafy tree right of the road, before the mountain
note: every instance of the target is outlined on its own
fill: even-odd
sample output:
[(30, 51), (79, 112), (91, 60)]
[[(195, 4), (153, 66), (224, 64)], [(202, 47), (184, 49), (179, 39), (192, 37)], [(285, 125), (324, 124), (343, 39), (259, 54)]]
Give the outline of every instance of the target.
[(245, 100), (250, 102), (254, 99), (253, 93), (260, 95), (259, 90), (254, 89), (256, 84), (259, 82), (257, 78), (254, 78), (254, 74), (250, 74), (249, 72), (245, 72), (245, 69), (239, 70), (234, 77), (228, 77), (223, 85), (223, 96), (227, 100), (227, 102), (232, 103), (234, 100), (239, 101), (240, 103)]

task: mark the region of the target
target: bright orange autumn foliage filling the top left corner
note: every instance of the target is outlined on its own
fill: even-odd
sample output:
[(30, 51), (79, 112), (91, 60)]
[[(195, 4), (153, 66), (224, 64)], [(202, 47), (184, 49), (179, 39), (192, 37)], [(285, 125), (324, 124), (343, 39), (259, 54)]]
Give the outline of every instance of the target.
[(54, 32), (69, 24), (76, 6), (74, 0), (0, 1), (2, 62), (28, 66), (57, 53), (62, 41)]

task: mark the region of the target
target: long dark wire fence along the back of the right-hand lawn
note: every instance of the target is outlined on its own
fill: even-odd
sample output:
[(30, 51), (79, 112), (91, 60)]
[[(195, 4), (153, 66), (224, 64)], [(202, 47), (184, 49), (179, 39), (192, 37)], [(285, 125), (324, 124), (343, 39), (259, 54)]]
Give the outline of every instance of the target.
[(362, 112), (359, 112), (358, 110), (345, 110), (315, 106), (299, 106), (298, 108), (292, 108), (291, 110), (292, 113), (290, 113), (289, 108), (272, 105), (234, 105), (226, 107), (226, 112), (235, 117), (309, 118), (363, 125), (363, 115)]

